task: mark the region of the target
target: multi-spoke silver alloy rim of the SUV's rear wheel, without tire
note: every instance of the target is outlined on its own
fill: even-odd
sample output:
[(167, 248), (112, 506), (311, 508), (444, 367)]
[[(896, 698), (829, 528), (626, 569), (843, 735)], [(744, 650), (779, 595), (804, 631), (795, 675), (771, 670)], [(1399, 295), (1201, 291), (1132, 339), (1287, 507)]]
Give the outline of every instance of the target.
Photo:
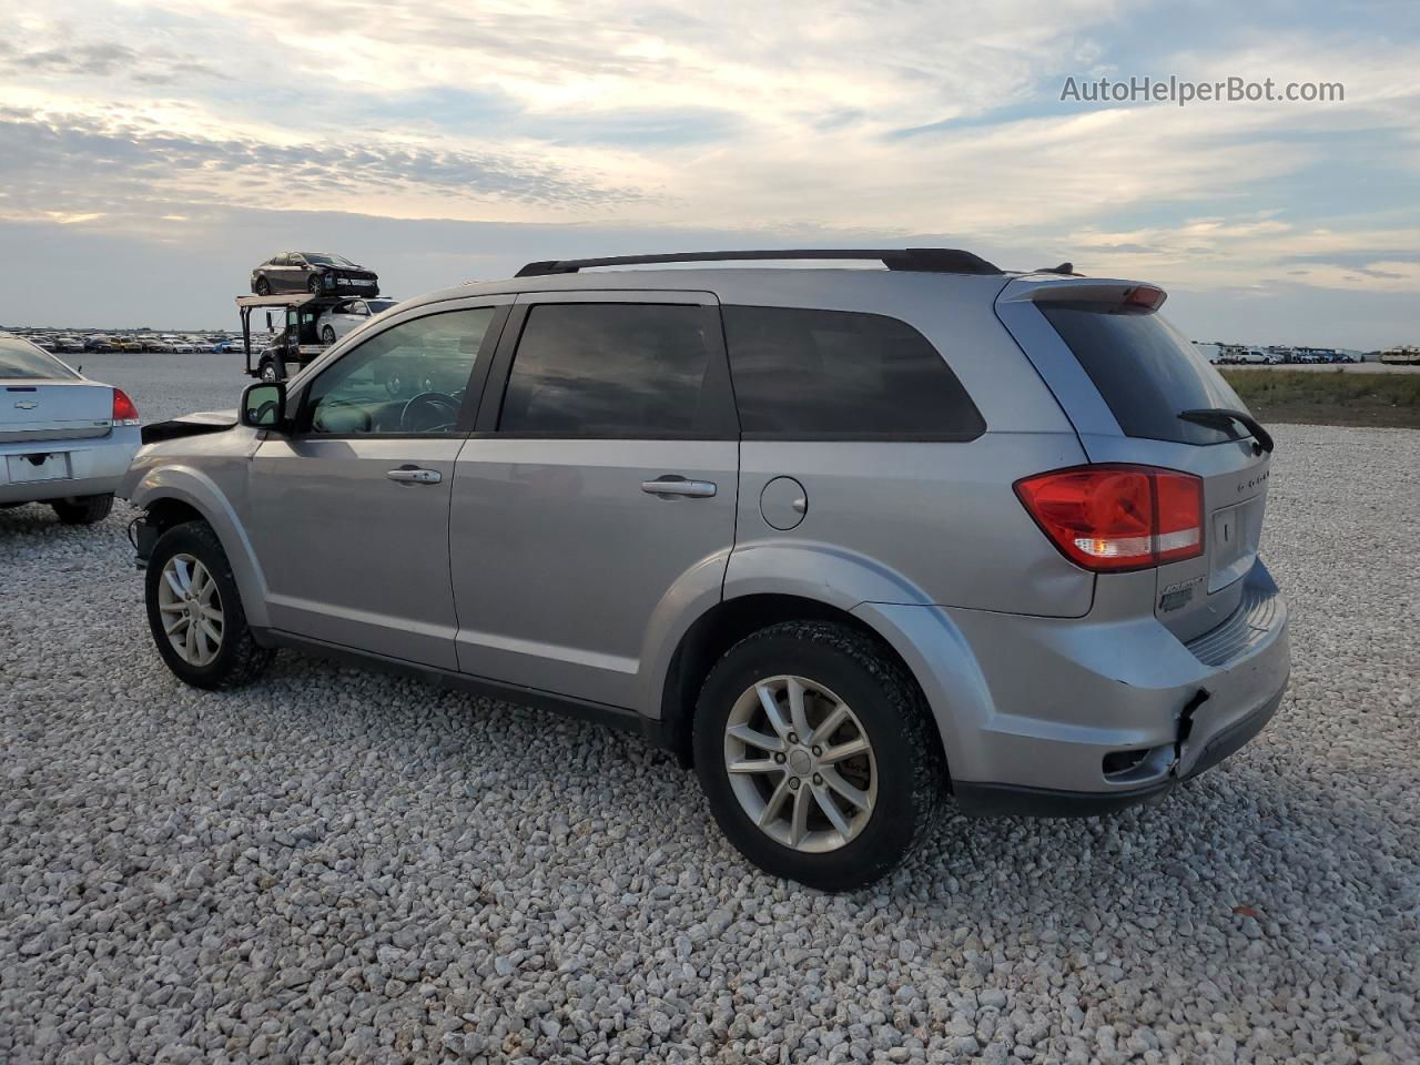
[(760, 831), (807, 853), (836, 851), (872, 819), (878, 763), (862, 721), (824, 684), (755, 682), (724, 728), (724, 767)]

